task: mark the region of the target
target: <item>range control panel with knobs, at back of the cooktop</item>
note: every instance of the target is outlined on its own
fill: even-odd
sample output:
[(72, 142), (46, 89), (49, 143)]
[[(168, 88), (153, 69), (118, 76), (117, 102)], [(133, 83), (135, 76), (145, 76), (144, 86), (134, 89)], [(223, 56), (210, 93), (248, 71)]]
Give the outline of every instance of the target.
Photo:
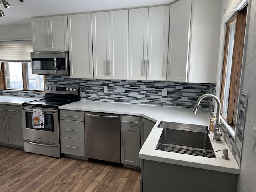
[(49, 85), (49, 84), (46, 84), (44, 92), (45, 93), (78, 95), (79, 87), (71, 86), (71, 85)]

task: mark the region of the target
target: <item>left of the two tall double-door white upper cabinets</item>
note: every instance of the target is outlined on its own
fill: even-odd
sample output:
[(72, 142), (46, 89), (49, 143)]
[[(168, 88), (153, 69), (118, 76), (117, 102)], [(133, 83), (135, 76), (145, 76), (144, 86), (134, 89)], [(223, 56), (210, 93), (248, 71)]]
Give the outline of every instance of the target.
[(128, 78), (128, 10), (92, 14), (96, 79)]

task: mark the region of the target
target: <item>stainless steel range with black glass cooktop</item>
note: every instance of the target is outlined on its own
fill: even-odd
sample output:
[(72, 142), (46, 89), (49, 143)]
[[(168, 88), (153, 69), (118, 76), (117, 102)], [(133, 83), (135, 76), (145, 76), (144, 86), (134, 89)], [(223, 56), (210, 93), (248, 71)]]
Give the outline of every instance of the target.
[[(80, 100), (78, 86), (46, 85), (45, 99), (22, 103), (24, 150), (60, 158), (59, 106)], [(43, 126), (35, 124), (41, 112)]]

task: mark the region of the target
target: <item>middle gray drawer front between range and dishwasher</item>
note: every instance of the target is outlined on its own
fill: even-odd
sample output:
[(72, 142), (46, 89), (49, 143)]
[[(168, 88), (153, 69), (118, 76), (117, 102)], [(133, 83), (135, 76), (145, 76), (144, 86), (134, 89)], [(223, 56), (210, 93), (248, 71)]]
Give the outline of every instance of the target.
[(84, 139), (84, 122), (60, 120), (60, 136)]

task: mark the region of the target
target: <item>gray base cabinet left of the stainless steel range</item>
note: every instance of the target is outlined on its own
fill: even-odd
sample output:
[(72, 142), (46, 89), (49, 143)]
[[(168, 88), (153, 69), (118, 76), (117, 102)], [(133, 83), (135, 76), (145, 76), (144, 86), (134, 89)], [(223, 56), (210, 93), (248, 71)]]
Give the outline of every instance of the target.
[(0, 143), (24, 146), (20, 106), (0, 105)]

